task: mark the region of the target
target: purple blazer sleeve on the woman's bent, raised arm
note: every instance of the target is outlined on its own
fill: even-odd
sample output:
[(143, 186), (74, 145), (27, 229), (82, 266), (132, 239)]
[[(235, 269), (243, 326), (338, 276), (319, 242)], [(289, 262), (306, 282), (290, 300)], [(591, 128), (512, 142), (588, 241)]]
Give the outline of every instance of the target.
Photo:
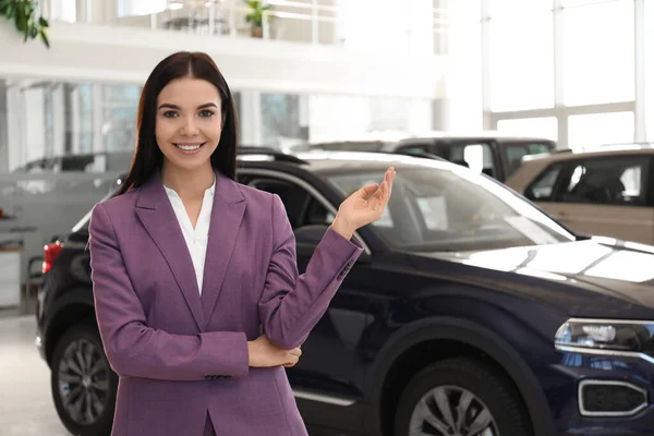
[(349, 241), (329, 228), (306, 271), (299, 276), (295, 237), (276, 194), (272, 196), (272, 240), (258, 313), (264, 334), (270, 341), (291, 350), (306, 340), (363, 249), (355, 240)]

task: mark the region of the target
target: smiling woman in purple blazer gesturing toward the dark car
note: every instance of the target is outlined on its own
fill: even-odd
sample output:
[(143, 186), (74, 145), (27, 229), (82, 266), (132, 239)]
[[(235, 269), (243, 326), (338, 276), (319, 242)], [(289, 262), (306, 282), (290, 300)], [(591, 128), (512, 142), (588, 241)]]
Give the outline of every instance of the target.
[[(361, 254), (395, 171), (339, 207), (306, 272), (278, 196), (234, 182), (237, 120), (211, 59), (152, 72), (119, 194), (89, 226), (96, 316), (120, 377), (113, 435), (306, 435), (284, 366)], [(204, 432), (204, 433), (203, 433)]]

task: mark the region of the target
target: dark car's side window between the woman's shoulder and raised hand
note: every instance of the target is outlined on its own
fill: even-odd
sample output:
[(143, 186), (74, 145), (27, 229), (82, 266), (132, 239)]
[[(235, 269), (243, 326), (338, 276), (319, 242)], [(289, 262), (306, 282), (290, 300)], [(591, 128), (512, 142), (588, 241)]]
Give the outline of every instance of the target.
[(250, 186), (279, 195), (291, 227), (294, 229), (310, 225), (330, 225), (334, 214), (329, 213), (306, 190), (287, 180), (270, 177), (252, 177)]

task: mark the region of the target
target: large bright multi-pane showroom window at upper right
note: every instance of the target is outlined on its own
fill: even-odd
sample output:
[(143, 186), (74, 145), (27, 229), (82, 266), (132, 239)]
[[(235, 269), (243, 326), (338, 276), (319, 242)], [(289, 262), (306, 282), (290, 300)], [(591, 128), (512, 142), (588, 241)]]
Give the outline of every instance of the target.
[(654, 0), (481, 3), (485, 129), (564, 148), (654, 141)]

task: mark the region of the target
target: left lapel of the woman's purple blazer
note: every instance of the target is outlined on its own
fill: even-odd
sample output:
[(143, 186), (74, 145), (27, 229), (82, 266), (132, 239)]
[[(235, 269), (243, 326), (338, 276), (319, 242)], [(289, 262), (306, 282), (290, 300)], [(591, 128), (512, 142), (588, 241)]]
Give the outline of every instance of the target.
[(205, 322), (193, 261), (159, 173), (140, 189), (136, 214), (172, 270), (197, 327), (204, 331)]

